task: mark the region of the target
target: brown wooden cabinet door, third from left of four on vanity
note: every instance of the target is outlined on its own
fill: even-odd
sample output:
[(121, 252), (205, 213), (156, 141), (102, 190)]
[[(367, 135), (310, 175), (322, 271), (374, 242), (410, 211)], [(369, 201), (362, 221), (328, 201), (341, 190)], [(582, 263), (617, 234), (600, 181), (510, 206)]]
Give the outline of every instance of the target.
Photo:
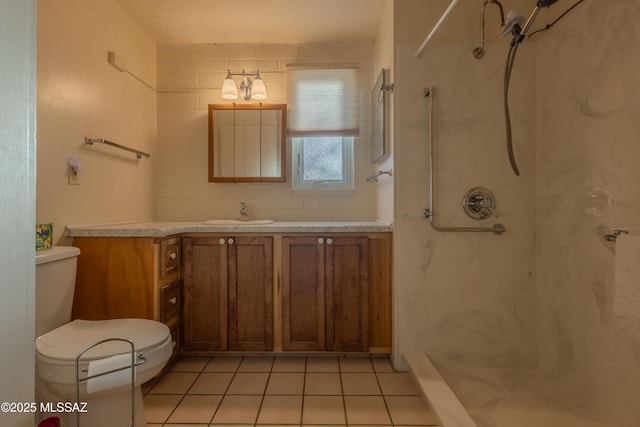
[(324, 350), (324, 238), (283, 237), (282, 243), (282, 348)]

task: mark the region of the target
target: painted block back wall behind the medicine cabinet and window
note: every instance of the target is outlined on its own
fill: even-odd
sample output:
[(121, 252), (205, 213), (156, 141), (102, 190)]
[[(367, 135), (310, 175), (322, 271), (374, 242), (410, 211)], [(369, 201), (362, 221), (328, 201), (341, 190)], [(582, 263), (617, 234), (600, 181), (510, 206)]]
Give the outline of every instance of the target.
[[(360, 137), (355, 142), (355, 189), (293, 191), (291, 146), (287, 144), (287, 183), (207, 182), (208, 104), (230, 103), (220, 88), (227, 69), (260, 70), (267, 103), (286, 103), (287, 63), (330, 62), (360, 67)], [(162, 45), (158, 51), (157, 217), (162, 220), (236, 218), (239, 202), (255, 218), (274, 220), (375, 219), (370, 155), (369, 94), (373, 86), (373, 44), (318, 45), (193, 44)], [(237, 101), (244, 103), (240, 99)]]

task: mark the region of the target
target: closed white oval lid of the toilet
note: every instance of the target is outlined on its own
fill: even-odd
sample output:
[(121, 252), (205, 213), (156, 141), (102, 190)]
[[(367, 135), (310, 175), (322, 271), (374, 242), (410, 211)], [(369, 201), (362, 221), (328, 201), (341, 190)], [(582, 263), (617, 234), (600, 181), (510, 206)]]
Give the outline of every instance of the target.
[[(169, 328), (148, 319), (73, 320), (36, 339), (36, 352), (48, 359), (75, 360), (85, 348), (109, 338), (133, 341), (135, 351), (145, 352), (164, 342)], [(101, 344), (87, 351), (82, 359), (100, 359), (129, 352), (131, 346), (121, 341)]]

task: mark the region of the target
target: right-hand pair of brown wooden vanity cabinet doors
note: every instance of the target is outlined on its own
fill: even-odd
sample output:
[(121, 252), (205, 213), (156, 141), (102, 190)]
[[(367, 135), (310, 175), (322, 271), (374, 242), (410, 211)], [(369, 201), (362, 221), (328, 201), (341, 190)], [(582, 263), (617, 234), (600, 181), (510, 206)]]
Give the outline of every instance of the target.
[(369, 239), (285, 236), (283, 349), (369, 350)]

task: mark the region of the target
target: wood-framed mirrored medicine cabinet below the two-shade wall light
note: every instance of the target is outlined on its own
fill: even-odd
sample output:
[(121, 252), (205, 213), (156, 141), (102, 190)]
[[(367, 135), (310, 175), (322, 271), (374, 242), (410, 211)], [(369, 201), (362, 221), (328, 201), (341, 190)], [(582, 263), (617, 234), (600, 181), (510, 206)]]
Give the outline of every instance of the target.
[(209, 104), (209, 182), (286, 182), (286, 104)]

